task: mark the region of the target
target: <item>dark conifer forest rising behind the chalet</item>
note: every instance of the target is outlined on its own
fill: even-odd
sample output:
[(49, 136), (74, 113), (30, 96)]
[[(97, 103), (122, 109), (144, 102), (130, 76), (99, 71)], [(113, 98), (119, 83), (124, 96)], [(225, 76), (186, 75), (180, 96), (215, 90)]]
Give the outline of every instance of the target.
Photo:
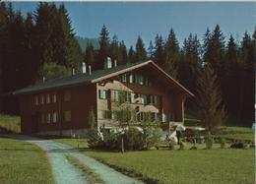
[[(213, 31), (206, 30), (202, 44), (196, 34), (189, 34), (180, 47), (171, 29), (166, 39), (157, 34), (148, 48), (140, 36), (134, 48), (127, 48), (116, 35), (109, 38), (108, 34), (102, 26), (98, 38), (82, 45), (64, 5), (38, 3), (34, 12), (22, 16), (11, 3), (0, 3), (0, 111), (19, 113), (11, 92), (41, 81), (42, 76), (47, 80), (71, 75), (73, 68), (79, 72), (82, 62), (93, 70), (102, 69), (110, 56), (117, 65), (152, 59), (194, 93), (198, 71), (210, 63), (220, 82), (228, 115), (225, 123), (250, 126), (254, 121), (256, 30), (252, 35), (244, 32), (239, 42), (231, 34), (224, 41), (217, 25)], [(50, 70), (57, 76), (47, 76)], [(194, 99), (187, 100), (186, 112), (196, 115)]]

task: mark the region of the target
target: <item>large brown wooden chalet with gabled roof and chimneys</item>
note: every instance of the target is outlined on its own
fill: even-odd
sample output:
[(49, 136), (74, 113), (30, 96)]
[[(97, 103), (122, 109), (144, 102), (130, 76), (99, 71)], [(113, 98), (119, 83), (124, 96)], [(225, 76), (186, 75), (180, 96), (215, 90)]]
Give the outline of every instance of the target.
[[(87, 69), (89, 69), (87, 71)], [(85, 133), (91, 110), (96, 126), (114, 128), (117, 102), (125, 94), (126, 105), (141, 121), (146, 112), (161, 122), (184, 120), (184, 100), (193, 96), (153, 61), (116, 66), (110, 58), (104, 70), (83, 65), (83, 73), (54, 79), (14, 92), (19, 96), (24, 134)]]

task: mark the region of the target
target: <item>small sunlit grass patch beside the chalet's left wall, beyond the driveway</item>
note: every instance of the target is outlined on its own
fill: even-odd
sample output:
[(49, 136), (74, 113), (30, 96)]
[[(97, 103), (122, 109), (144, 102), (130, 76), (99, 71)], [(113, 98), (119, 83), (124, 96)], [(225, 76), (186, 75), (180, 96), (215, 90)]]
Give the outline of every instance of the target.
[(16, 115), (0, 114), (0, 130), (21, 133), (21, 117)]

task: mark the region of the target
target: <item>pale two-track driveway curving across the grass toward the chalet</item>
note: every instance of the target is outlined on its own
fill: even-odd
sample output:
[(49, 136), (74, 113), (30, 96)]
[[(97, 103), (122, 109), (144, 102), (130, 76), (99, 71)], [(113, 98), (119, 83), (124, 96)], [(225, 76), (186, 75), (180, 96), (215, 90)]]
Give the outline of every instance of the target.
[(81, 171), (68, 162), (67, 158), (65, 157), (65, 154), (67, 153), (77, 157), (81, 161), (81, 163), (90, 167), (107, 184), (143, 183), (142, 181), (126, 176), (114, 170), (113, 168), (100, 163), (92, 157), (89, 157), (83, 153), (79, 153), (70, 146), (48, 140), (39, 140), (29, 136), (8, 135), (8, 137), (28, 141), (44, 150), (50, 159), (53, 175), (57, 184), (88, 183), (88, 181), (86, 181), (85, 178), (82, 177)]

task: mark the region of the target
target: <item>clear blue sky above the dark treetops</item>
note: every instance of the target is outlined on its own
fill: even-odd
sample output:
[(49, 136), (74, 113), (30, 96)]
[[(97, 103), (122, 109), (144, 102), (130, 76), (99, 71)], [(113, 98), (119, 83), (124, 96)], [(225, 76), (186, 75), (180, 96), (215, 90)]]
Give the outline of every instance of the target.
[[(56, 3), (59, 5), (59, 3)], [(114, 34), (129, 47), (138, 35), (146, 46), (157, 33), (166, 38), (172, 28), (180, 45), (189, 33), (203, 38), (207, 28), (220, 25), (226, 39), (233, 34), (240, 41), (243, 33), (256, 27), (254, 2), (65, 2), (76, 35), (98, 37), (104, 24), (109, 37)], [(37, 3), (16, 2), (23, 15), (34, 11)]]

